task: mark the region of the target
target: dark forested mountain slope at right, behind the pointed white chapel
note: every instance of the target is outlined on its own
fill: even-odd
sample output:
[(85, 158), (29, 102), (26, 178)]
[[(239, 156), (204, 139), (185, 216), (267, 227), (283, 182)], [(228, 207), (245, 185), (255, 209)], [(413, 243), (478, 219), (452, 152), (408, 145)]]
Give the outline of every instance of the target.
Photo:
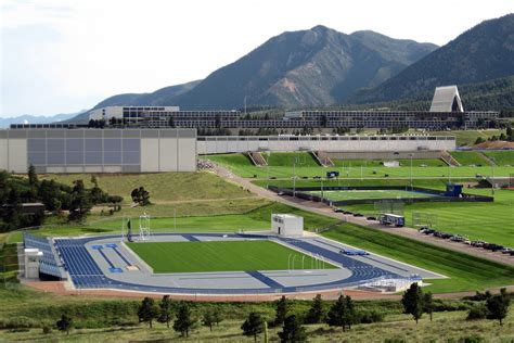
[(348, 99), (370, 103), (412, 98), (437, 86), (478, 84), (514, 75), (514, 14), (485, 21), (395, 77)]

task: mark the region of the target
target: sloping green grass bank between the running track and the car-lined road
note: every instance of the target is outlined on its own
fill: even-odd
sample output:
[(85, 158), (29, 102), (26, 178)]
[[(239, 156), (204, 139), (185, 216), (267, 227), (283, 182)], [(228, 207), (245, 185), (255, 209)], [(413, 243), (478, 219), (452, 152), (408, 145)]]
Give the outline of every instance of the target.
[(433, 292), (479, 290), (484, 287), (512, 284), (514, 280), (512, 266), (448, 251), (385, 231), (345, 224), (322, 234), (449, 277), (427, 280), (426, 282), (433, 284), (428, 288)]

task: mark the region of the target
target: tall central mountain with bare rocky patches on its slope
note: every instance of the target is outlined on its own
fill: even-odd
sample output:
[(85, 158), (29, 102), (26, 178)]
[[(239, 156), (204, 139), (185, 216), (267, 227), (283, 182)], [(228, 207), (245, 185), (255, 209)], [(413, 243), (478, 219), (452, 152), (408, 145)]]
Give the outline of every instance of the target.
[(373, 31), (345, 35), (324, 26), (286, 31), (177, 97), (182, 109), (247, 104), (303, 107), (339, 102), (376, 86), (437, 48)]

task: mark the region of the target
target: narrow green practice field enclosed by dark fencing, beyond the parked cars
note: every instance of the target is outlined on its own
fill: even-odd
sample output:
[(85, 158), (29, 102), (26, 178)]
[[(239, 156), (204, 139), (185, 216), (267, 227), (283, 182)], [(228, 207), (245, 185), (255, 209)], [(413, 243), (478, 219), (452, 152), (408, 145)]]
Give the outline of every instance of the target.
[[(321, 196), (321, 191), (304, 192)], [(349, 191), (323, 191), (323, 198), (332, 201), (361, 200), (361, 199), (414, 199), (431, 198), (433, 194), (402, 191), (402, 190), (349, 190)]]

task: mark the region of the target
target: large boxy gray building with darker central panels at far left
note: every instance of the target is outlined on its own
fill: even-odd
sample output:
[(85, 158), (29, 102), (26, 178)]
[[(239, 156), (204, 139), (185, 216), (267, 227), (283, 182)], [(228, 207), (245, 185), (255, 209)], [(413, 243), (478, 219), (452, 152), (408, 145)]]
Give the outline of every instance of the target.
[(196, 170), (195, 129), (0, 130), (0, 169), (26, 173)]

